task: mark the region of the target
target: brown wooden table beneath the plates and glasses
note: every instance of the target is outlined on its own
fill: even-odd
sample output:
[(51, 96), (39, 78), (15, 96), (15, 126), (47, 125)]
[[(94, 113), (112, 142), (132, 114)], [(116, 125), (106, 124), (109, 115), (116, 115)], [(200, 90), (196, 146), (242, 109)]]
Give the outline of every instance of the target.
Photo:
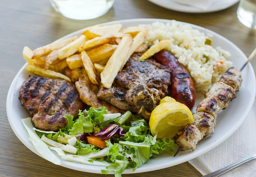
[[(171, 11), (147, 0), (116, 0), (102, 17), (88, 21), (70, 20), (53, 10), (47, 0), (2, 0), (0, 3), (0, 177), (96, 177), (49, 163), (26, 148), (12, 132), (6, 116), (6, 96), (12, 79), (25, 63), (24, 46), (34, 49), (87, 26), (133, 18), (174, 19), (208, 28), (226, 37), (248, 56), (256, 47), (255, 31), (244, 27), (236, 17), (237, 5), (208, 14)], [(232, 51), (231, 51), (232, 53)], [(256, 67), (256, 60), (253, 62)], [(15, 111), (15, 110), (13, 110)], [(108, 175), (111, 176), (111, 175)], [(132, 176), (199, 177), (188, 162), (167, 169)]]

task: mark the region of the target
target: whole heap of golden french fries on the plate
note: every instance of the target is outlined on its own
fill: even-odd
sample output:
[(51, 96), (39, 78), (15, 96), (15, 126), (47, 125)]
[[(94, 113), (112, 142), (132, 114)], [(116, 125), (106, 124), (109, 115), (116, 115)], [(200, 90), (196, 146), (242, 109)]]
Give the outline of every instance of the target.
[[(29, 64), (27, 70), (42, 77), (72, 82), (88, 75), (92, 85), (99, 84), (101, 77), (103, 87), (110, 88), (131, 55), (148, 47), (143, 44), (148, 27), (121, 28), (122, 24), (96, 25), (86, 28), (80, 37), (53, 42), (34, 51), (24, 47), (23, 57)], [(169, 42), (164, 40), (153, 45), (140, 60), (165, 48)]]

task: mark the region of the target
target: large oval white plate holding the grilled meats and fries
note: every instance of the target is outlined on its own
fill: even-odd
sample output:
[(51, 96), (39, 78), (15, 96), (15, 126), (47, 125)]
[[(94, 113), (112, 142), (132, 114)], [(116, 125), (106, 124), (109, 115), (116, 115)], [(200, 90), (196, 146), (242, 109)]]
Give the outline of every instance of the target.
[[(153, 22), (171, 22), (170, 20), (160, 20), (160, 19), (133, 19), (133, 20), (120, 20), (115, 22), (107, 22), (102, 25), (110, 25), (114, 23), (122, 23), (124, 27), (128, 26), (136, 26), (139, 24), (151, 24)], [(187, 24), (182, 22), (183, 24)], [(190, 25), (190, 24), (189, 24)], [(234, 62), (234, 66), (240, 68), (244, 62), (247, 60), (244, 53), (232, 42), (227, 40), (226, 38), (216, 34), (212, 31), (209, 31), (205, 28), (191, 25), (193, 28), (198, 29), (202, 32), (212, 34), (213, 38), (213, 46), (221, 46), (224, 50), (230, 51), (232, 54), (232, 60)], [(76, 31), (72, 34), (69, 34), (65, 37), (62, 37), (58, 40), (67, 39), (69, 37), (81, 34), (83, 30)], [(24, 43), (24, 45), (26, 45)], [(22, 55), (20, 53), (20, 59), (22, 59)], [(9, 93), (6, 101), (6, 110), (8, 115), (9, 123), (12, 127), (12, 130), (15, 132), (15, 135), (20, 139), (20, 141), (28, 147), (32, 152), (38, 152), (35, 150), (32, 143), (29, 141), (29, 135), (24, 126), (22, 125), (21, 119), (29, 117), (29, 113), (20, 105), (20, 101), (18, 100), (20, 86), (23, 82), (28, 79), (29, 73), (25, 69), (26, 65), (24, 65), (20, 71), (15, 76), (12, 81), (11, 87), (9, 89)], [(246, 118), (247, 114), (250, 111), (250, 108), (253, 105), (253, 100), (256, 94), (256, 86), (255, 86), (255, 75), (253, 71), (253, 67), (249, 64), (247, 65), (243, 72), (243, 83), (240, 91), (237, 93), (237, 98), (232, 101), (229, 107), (225, 111), (221, 111), (217, 118), (217, 126), (215, 128), (215, 134), (210, 135), (198, 143), (198, 146), (194, 152), (180, 152), (177, 157), (171, 157), (167, 154), (159, 155), (157, 158), (149, 160), (143, 166), (140, 166), (135, 171), (132, 169), (126, 169), (124, 173), (140, 173), (146, 171), (153, 171), (158, 169), (167, 168), (170, 166), (175, 166), (177, 164), (186, 162), (191, 160), (199, 155), (202, 155), (215, 146), (218, 146), (224, 140), (230, 137), (230, 135), (235, 132), (235, 130), (241, 125), (241, 123)], [(197, 102), (199, 102), (198, 100)], [(39, 155), (40, 156), (40, 155)], [(89, 166), (83, 165), (73, 162), (68, 162), (61, 160), (61, 166), (75, 169), (79, 171), (92, 172), (92, 173), (101, 173), (100, 169), (104, 167), (100, 166)]]

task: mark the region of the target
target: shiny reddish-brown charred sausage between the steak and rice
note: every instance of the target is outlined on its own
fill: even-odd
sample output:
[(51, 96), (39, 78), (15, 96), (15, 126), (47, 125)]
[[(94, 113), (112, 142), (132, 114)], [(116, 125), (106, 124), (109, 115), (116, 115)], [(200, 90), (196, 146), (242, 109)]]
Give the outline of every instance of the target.
[(196, 92), (189, 71), (169, 51), (162, 50), (154, 54), (153, 58), (158, 63), (168, 66), (172, 70), (171, 97), (192, 109), (196, 100)]

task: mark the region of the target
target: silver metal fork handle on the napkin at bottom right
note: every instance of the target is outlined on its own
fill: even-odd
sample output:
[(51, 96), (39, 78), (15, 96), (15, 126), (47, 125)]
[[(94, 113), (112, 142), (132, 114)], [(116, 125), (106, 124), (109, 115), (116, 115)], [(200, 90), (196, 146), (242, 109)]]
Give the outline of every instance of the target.
[(233, 169), (236, 169), (238, 168), (239, 166), (242, 166), (244, 165), (245, 163), (248, 163), (250, 161), (253, 161), (253, 160), (256, 160), (256, 154), (255, 155), (251, 155), (249, 157), (246, 157), (244, 159), (241, 159), (239, 161), (237, 161), (236, 163), (233, 163), (231, 164), (230, 166), (226, 166), (225, 168), (223, 169), (220, 169), (218, 171), (214, 171), (212, 173), (209, 173), (207, 175), (204, 175), (203, 177), (219, 177), (221, 176), (222, 174), (225, 174), (227, 173), (228, 171), (231, 171)]

